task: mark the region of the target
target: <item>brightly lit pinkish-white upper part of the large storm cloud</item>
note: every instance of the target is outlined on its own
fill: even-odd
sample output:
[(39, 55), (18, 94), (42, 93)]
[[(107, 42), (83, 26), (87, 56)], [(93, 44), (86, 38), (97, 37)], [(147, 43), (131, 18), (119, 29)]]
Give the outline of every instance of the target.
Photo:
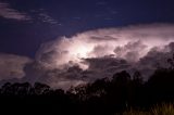
[(62, 37), (41, 46), (37, 61), (47, 67), (61, 68), (66, 64), (88, 65), (83, 59), (112, 55), (128, 62), (137, 62), (152, 48), (174, 41), (174, 25), (152, 24), (105, 28)]

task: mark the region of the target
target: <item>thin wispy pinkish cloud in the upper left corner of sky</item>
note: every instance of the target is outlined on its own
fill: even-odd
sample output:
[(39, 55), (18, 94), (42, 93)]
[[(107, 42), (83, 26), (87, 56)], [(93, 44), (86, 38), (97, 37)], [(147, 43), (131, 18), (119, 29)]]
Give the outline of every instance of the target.
[(13, 8), (9, 3), (0, 2), (0, 16), (4, 18), (17, 20), (17, 21), (28, 21), (32, 20), (24, 12), (20, 12)]

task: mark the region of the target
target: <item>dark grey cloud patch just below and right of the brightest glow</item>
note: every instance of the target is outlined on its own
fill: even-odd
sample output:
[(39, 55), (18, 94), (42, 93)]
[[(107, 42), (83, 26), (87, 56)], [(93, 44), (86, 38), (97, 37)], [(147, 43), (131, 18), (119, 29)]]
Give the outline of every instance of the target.
[(122, 59), (103, 56), (95, 59), (86, 59), (86, 63), (89, 64), (89, 67), (86, 72), (90, 80), (103, 77), (112, 77), (113, 74), (129, 68), (129, 64)]

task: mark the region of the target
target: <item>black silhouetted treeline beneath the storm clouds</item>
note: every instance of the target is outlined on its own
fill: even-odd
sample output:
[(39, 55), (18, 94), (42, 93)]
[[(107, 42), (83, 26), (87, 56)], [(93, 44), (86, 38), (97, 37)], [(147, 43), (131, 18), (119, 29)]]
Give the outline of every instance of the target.
[(123, 71), (112, 79), (77, 86), (67, 91), (36, 82), (4, 84), (0, 89), (0, 111), (17, 114), (113, 115), (128, 108), (148, 110), (174, 100), (174, 61), (169, 68), (158, 68), (147, 81), (136, 72)]

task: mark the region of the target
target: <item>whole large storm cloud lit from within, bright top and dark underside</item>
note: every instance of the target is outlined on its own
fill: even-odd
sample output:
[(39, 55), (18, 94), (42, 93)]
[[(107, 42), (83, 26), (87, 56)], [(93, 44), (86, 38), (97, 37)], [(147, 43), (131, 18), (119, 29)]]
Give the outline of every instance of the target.
[(103, 28), (59, 37), (44, 43), (36, 60), (23, 66), (22, 79), (67, 89), (120, 71), (139, 71), (147, 78), (158, 65), (167, 66), (173, 42), (174, 24)]

